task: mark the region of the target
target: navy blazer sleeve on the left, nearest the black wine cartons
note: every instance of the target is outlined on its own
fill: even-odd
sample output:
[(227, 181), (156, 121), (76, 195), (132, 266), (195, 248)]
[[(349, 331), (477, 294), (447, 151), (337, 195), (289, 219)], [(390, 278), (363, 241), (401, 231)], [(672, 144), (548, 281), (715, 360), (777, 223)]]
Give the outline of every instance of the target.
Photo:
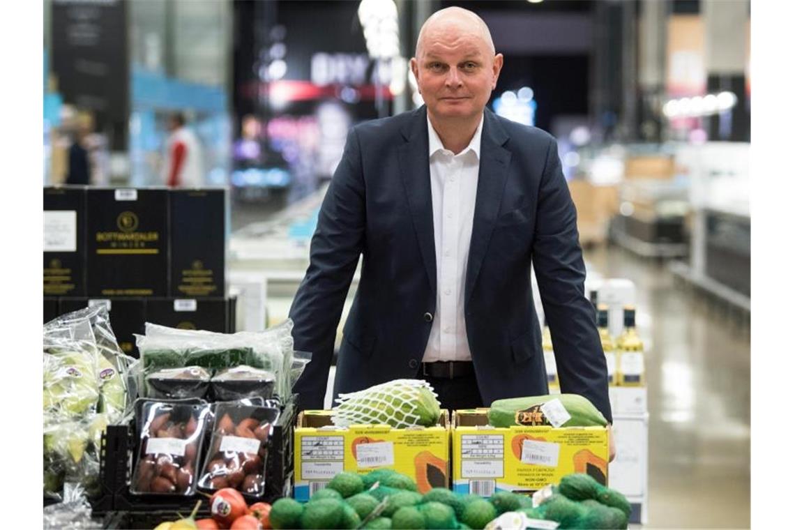
[(365, 224), (361, 152), (352, 128), (320, 206), (309, 266), (289, 311), (295, 350), (312, 352), (293, 385), (302, 410), (323, 408), (336, 330), (363, 250)]

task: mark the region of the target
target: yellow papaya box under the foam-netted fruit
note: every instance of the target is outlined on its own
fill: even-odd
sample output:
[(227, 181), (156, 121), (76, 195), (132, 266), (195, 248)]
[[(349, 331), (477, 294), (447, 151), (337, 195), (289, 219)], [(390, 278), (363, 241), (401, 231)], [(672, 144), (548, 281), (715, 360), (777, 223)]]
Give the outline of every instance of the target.
[(367, 474), (378, 468), (408, 475), (421, 493), (449, 488), (449, 417), (443, 410), (433, 427), (336, 427), (330, 410), (301, 412), (295, 429), (293, 496), (297, 501), (308, 501), (335, 474)]

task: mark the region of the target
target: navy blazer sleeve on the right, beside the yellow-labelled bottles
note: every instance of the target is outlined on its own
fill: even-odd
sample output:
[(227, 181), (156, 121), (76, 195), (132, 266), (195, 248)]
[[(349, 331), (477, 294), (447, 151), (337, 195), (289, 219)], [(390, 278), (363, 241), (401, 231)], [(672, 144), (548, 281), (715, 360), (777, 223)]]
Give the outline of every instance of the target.
[(533, 268), (552, 334), (560, 392), (587, 397), (612, 423), (607, 361), (594, 309), (585, 297), (585, 264), (576, 209), (553, 138), (541, 176), (536, 226)]

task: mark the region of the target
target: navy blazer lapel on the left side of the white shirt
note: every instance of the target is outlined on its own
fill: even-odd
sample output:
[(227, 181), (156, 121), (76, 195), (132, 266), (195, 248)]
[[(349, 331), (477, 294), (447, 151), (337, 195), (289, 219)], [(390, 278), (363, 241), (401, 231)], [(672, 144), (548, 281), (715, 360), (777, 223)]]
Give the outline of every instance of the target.
[(431, 169), (428, 157), (428, 121), (425, 106), (415, 111), (413, 118), (401, 131), (405, 144), (398, 148), (403, 186), (409, 199), (414, 230), (420, 242), (422, 261), (431, 290), (436, 297), (436, 244), (433, 240), (433, 203), (431, 199)]

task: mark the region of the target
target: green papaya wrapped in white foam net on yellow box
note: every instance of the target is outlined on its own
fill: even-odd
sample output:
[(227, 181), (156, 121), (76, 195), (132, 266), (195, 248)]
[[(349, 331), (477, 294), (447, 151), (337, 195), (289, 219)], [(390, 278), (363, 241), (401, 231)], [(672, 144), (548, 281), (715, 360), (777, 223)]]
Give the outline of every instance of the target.
[(395, 379), (359, 392), (339, 394), (332, 423), (339, 427), (355, 424), (387, 424), (396, 428), (427, 426), (439, 419), (436, 397), (428, 381)]

